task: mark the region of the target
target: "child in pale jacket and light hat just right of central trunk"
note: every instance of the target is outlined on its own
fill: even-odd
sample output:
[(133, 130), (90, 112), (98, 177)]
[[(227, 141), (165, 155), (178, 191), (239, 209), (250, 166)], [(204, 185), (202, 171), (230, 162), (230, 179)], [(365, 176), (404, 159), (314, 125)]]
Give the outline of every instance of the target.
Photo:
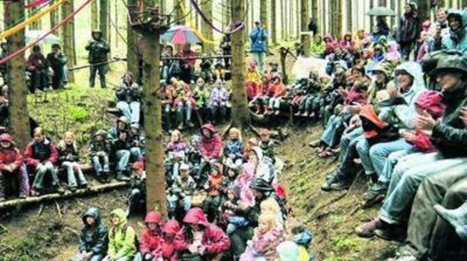
[(190, 166), (182, 163), (180, 167), (180, 176), (167, 192), (167, 201), (169, 202), (171, 216), (176, 216), (175, 212), (178, 207), (178, 202), (183, 202), (183, 209), (185, 209), (185, 211), (190, 209), (194, 188), (196, 188), (196, 183), (190, 176)]

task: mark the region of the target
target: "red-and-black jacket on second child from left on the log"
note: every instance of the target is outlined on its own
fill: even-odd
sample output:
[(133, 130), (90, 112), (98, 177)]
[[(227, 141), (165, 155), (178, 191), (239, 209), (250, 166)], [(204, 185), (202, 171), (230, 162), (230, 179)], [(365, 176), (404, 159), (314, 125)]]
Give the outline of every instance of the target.
[(45, 138), (40, 144), (33, 140), (24, 149), (24, 162), (31, 167), (37, 167), (39, 163), (45, 161), (56, 163), (58, 158), (59, 153), (56, 151), (55, 145)]

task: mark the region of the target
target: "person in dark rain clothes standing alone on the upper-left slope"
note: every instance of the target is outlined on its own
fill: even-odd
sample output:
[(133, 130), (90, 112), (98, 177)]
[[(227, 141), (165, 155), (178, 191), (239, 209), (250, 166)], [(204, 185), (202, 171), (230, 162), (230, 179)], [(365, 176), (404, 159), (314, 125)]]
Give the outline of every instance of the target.
[[(105, 84), (105, 74), (107, 73), (107, 54), (110, 52), (110, 46), (102, 39), (102, 31), (93, 30), (92, 40), (86, 45), (86, 50), (89, 51), (89, 87), (94, 87), (95, 74), (99, 72), (100, 87), (107, 88)], [(96, 64), (96, 65), (94, 65)]]

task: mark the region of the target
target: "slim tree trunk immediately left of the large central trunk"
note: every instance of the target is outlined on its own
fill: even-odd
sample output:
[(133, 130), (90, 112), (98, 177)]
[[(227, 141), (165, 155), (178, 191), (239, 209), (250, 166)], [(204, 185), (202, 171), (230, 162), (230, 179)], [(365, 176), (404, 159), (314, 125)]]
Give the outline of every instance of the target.
[[(136, 6), (137, 0), (128, 0), (128, 6)], [(127, 68), (135, 75), (135, 79), (140, 80), (142, 75), (139, 75), (139, 57), (138, 57), (138, 34), (131, 28), (130, 20), (127, 18), (127, 30), (126, 30), (126, 57), (127, 57)]]

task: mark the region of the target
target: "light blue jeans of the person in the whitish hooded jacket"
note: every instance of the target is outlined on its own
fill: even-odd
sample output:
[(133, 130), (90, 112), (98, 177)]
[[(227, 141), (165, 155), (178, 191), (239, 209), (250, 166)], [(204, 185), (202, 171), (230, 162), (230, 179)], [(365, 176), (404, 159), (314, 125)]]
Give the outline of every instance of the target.
[(395, 140), (393, 142), (378, 143), (369, 149), (369, 157), (372, 159), (374, 171), (378, 176), (383, 173), (383, 168), (388, 159), (389, 154), (394, 151), (403, 149), (411, 149), (412, 144), (406, 142), (404, 139)]

